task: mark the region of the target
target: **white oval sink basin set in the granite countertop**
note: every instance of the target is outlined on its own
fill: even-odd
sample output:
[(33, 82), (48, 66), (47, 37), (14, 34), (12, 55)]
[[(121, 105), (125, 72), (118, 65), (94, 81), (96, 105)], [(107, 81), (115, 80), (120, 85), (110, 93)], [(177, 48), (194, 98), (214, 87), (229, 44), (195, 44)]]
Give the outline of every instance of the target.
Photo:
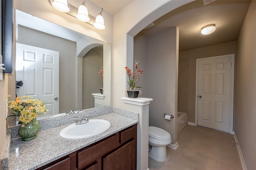
[(69, 125), (60, 131), (60, 136), (65, 139), (83, 139), (96, 136), (105, 132), (110, 127), (110, 122), (102, 119), (92, 119), (81, 125)]

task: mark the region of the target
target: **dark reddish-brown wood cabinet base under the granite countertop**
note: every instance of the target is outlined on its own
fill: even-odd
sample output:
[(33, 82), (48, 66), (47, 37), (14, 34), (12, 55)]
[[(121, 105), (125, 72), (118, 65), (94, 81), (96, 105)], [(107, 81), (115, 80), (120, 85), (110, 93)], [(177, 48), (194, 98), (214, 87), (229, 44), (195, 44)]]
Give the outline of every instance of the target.
[(136, 138), (133, 125), (37, 170), (136, 170)]

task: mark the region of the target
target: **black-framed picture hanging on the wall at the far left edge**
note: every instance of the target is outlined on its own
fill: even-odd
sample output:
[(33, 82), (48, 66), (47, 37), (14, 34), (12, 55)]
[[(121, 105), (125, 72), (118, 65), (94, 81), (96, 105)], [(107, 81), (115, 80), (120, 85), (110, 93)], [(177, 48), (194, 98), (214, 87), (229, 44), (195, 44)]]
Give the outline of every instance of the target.
[(13, 0), (4, 0), (3, 73), (12, 73)]

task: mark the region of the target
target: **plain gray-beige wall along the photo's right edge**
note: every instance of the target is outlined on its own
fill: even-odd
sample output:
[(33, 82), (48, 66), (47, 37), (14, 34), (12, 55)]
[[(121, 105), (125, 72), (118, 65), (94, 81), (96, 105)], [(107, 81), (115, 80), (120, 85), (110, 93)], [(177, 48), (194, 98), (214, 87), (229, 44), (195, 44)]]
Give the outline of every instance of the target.
[(248, 170), (256, 167), (256, 1), (248, 9), (237, 40), (235, 134)]

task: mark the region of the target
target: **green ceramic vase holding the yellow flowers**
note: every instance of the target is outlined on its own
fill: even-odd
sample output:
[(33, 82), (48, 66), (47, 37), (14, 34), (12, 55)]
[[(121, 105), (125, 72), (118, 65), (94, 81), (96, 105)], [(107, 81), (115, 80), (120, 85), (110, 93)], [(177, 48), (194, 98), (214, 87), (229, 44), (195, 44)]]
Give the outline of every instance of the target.
[(22, 123), (24, 127), (20, 126), (18, 134), (22, 137), (22, 140), (34, 139), (40, 129), (40, 125), (36, 119), (32, 119), (30, 123)]

